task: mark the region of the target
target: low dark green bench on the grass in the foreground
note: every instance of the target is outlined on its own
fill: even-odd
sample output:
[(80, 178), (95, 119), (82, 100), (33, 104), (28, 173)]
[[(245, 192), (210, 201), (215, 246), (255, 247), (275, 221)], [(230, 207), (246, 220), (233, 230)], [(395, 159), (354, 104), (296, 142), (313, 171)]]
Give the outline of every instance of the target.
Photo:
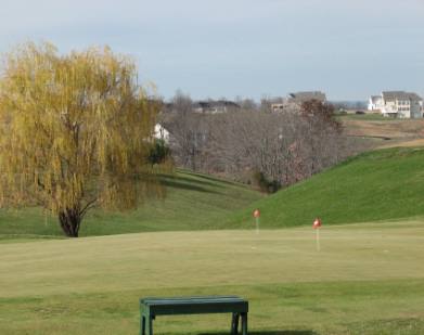
[(140, 334), (153, 335), (153, 320), (157, 315), (232, 313), (231, 334), (247, 335), (248, 302), (236, 296), (143, 298), (140, 299)]

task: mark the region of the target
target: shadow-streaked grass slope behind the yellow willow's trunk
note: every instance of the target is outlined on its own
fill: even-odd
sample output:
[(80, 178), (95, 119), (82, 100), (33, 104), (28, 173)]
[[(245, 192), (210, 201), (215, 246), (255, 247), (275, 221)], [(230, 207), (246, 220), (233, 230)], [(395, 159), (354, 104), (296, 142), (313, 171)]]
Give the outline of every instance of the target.
[[(92, 211), (82, 221), (80, 235), (219, 229), (232, 211), (262, 197), (242, 184), (187, 171), (163, 176), (162, 182), (165, 199), (147, 201), (127, 214)], [(0, 242), (37, 236), (62, 236), (57, 219), (39, 208), (0, 211)]]

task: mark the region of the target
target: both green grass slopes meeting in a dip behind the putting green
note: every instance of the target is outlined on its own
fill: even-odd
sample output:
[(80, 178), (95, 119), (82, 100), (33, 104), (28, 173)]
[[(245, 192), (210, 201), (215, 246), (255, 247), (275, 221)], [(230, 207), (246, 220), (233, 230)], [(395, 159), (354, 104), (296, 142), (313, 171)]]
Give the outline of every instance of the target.
[[(91, 212), (81, 236), (181, 231), (250, 229), (252, 211), (261, 227), (369, 222), (424, 216), (424, 149), (388, 149), (361, 154), (323, 173), (265, 197), (239, 183), (180, 171), (164, 176), (165, 199), (149, 201), (127, 214)], [(38, 209), (0, 212), (0, 240), (17, 234), (61, 236), (56, 218)]]

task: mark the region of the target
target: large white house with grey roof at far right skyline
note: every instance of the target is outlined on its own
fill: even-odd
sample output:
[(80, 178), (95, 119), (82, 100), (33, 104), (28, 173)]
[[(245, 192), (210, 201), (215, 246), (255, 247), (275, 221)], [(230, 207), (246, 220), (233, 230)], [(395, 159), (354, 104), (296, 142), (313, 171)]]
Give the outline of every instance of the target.
[(413, 92), (384, 91), (370, 98), (369, 109), (394, 118), (422, 118), (423, 99)]

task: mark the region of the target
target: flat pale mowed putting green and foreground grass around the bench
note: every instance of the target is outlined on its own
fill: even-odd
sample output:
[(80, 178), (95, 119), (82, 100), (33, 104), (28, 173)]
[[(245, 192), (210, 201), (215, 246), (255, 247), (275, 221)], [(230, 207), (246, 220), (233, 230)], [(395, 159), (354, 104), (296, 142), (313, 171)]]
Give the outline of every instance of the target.
[[(0, 334), (137, 334), (144, 296), (241, 295), (249, 334), (423, 334), (422, 221), (0, 244)], [(157, 318), (228, 334), (229, 315)]]

